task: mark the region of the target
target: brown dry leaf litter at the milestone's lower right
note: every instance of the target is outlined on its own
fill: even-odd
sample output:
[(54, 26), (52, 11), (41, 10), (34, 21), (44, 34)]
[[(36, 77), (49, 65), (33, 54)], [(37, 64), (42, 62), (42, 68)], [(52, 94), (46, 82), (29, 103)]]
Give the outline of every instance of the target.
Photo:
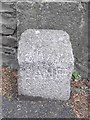
[(71, 107), (77, 118), (89, 118), (89, 93), (88, 88), (90, 86), (89, 80), (72, 81), (71, 83), (74, 89), (78, 89), (71, 93)]

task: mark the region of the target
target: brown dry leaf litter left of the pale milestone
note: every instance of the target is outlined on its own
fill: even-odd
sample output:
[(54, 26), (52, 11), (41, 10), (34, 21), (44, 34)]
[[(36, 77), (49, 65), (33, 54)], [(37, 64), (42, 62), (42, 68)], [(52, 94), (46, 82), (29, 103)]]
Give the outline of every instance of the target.
[(17, 71), (2, 68), (2, 95), (11, 98), (17, 94)]

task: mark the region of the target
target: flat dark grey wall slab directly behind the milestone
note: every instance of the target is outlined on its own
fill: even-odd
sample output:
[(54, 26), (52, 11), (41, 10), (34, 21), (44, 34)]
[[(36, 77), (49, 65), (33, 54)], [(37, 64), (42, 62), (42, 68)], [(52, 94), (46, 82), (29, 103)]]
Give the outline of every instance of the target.
[(87, 3), (46, 2), (17, 4), (18, 33), (26, 29), (64, 30), (70, 35), (75, 69), (88, 78), (88, 7)]

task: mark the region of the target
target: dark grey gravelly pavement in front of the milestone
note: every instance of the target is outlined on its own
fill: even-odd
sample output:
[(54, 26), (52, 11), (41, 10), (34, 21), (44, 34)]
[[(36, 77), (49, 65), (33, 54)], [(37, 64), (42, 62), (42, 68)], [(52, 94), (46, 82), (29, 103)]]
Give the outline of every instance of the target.
[(8, 101), (3, 98), (3, 117), (6, 118), (74, 118), (70, 106), (63, 101), (53, 100), (18, 100)]

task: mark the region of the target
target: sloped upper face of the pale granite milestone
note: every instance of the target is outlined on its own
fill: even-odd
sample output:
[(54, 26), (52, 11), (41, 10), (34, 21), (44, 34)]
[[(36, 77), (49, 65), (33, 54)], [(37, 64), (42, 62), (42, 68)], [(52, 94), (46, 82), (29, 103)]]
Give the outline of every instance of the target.
[(19, 64), (23, 62), (74, 61), (68, 33), (63, 30), (28, 29), (22, 33), (18, 48)]

